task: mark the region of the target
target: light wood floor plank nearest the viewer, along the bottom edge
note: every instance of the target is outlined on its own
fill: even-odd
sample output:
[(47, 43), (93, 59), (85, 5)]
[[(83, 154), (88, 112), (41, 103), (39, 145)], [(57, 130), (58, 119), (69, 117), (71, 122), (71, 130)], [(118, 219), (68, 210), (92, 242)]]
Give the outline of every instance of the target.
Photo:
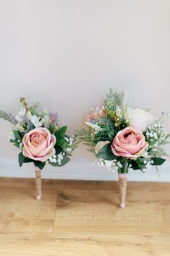
[(169, 256), (168, 236), (0, 233), (0, 255)]

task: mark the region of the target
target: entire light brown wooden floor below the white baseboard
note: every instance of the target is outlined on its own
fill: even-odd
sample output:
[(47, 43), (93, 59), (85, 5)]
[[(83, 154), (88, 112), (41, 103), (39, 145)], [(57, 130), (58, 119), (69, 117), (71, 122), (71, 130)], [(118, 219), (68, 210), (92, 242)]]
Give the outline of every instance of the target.
[(170, 255), (170, 184), (0, 179), (1, 256)]

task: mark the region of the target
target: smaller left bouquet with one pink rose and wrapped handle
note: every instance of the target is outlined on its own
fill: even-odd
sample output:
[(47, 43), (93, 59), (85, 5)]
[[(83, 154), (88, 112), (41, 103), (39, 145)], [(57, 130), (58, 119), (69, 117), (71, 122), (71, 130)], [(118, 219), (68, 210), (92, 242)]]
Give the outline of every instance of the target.
[(70, 160), (69, 155), (76, 148), (75, 136), (66, 135), (67, 127), (58, 127), (58, 115), (37, 110), (39, 103), (29, 107), (24, 98), (20, 98), (22, 108), (14, 118), (12, 114), (0, 111), (0, 118), (14, 124), (10, 142), (19, 150), (19, 166), (32, 162), (36, 174), (36, 198), (41, 198), (41, 170), (47, 163), (51, 166), (64, 166)]

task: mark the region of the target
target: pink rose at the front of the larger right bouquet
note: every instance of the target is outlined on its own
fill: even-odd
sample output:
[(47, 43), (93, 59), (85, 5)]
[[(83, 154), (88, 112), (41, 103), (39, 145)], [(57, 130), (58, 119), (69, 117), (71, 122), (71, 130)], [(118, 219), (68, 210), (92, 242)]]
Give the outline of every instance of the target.
[(112, 142), (112, 152), (114, 155), (124, 158), (136, 159), (148, 146), (144, 135), (137, 129), (127, 127), (117, 132)]

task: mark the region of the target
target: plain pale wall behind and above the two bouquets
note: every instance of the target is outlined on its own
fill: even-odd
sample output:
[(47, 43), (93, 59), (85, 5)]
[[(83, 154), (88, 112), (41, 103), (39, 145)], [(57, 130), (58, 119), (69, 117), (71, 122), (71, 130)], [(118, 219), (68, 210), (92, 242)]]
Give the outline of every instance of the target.
[[(39, 100), (69, 134), (109, 88), (127, 91), (133, 107), (170, 111), (169, 46), (169, 0), (0, 0), (0, 109)], [(10, 158), (12, 126), (0, 129), (0, 159)], [(82, 147), (79, 158), (93, 156)]]

